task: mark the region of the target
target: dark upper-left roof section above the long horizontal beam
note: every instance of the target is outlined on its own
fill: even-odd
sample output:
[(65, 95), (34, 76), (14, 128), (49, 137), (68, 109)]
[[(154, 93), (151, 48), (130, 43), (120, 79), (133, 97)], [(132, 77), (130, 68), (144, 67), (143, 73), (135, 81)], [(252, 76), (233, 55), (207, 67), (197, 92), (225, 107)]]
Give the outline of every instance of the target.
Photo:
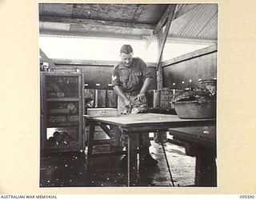
[(107, 3), (41, 3), (39, 14), (112, 22), (156, 24), (166, 10), (166, 4), (107, 4)]

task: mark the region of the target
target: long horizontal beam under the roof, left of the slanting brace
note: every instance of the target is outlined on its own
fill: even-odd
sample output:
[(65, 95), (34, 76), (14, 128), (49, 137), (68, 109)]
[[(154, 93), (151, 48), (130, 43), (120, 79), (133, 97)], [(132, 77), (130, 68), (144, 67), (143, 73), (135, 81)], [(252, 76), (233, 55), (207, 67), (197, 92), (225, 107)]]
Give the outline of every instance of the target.
[(66, 24), (75, 24), (79, 26), (118, 26), (124, 28), (133, 29), (149, 29), (154, 30), (154, 25), (144, 23), (132, 23), (132, 22), (113, 22), (105, 20), (94, 20), (85, 18), (63, 18), (63, 17), (51, 17), (51, 16), (40, 16), (39, 22), (58, 22)]

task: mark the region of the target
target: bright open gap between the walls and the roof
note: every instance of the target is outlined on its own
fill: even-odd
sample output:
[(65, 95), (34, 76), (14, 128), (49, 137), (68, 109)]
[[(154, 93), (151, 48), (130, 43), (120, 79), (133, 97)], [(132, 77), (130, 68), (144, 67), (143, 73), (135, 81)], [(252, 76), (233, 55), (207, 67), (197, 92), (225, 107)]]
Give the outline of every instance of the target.
[[(122, 45), (130, 44), (134, 49), (134, 57), (140, 57), (145, 62), (157, 62), (158, 44), (135, 40), (110, 38), (74, 38), (57, 36), (40, 36), (39, 47), (49, 58), (76, 60), (119, 61), (119, 50)], [(166, 43), (162, 60), (176, 58), (182, 54), (205, 48), (207, 45), (192, 45)]]

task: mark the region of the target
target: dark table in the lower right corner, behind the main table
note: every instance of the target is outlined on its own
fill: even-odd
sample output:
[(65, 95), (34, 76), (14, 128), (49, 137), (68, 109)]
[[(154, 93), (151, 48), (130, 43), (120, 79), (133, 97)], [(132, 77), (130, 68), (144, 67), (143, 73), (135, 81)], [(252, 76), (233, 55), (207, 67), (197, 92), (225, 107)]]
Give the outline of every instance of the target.
[(217, 186), (216, 126), (196, 126), (169, 130), (174, 141), (185, 146), (186, 154), (196, 158), (195, 186)]

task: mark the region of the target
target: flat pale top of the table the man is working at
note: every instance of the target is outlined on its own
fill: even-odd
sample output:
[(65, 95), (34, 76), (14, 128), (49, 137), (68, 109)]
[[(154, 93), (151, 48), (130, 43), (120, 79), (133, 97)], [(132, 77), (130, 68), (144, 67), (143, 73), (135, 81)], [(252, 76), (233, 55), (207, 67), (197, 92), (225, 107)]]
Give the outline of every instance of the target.
[(106, 122), (114, 125), (129, 126), (129, 125), (150, 125), (174, 122), (214, 122), (215, 118), (208, 119), (182, 119), (173, 114), (123, 114), (116, 117), (94, 117), (83, 115), (86, 119), (91, 119), (95, 122)]

